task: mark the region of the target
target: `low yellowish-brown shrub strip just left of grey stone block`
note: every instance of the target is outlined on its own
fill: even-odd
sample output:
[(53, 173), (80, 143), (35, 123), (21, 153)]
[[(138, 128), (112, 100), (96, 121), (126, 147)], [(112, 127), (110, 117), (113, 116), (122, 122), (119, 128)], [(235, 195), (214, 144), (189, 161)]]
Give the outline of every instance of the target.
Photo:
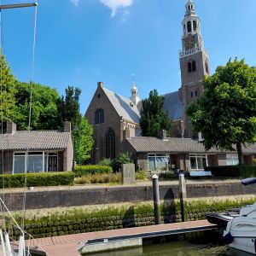
[(93, 174), (77, 177), (75, 183), (88, 184), (88, 183), (121, 183), (122, 177), (118, 174)]

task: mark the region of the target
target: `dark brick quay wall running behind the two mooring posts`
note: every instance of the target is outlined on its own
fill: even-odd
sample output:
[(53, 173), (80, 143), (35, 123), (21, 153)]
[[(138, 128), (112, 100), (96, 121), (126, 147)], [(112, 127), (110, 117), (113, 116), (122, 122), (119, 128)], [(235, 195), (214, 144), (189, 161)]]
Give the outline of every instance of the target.
[[(212, 196), (232, 196), (254, 194), (255, 186), (242, 186), (240, 182), (189, 183), (188, 198)], [(160, 184), (160, 200), (178, 199), (178, 184)], [(3, 193), (0, 194), (3, 198)], [(4, 194), (4, 201), (10, 211), (22, 208), (24, 194), (9, 192)], [(107, 205), (113, 203), (152, 201), (151, 185), (106, 186), (106, 187), (63, 187), (28, 190), (26, 192), (26, 209), (44, 209), (53, 207), (79, 207)]]

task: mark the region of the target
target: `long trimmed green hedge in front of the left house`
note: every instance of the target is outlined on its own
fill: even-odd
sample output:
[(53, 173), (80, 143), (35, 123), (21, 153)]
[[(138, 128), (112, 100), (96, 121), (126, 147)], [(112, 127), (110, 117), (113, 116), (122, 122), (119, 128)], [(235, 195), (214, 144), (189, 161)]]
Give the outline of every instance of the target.
[[(26, 174), (26, 187), (44, 187), (71, 185), (74, 181), (73, 172), (40, 172)], [(25, 174), (0, 175), (0, 188), (22, 188), (25, 185)]]

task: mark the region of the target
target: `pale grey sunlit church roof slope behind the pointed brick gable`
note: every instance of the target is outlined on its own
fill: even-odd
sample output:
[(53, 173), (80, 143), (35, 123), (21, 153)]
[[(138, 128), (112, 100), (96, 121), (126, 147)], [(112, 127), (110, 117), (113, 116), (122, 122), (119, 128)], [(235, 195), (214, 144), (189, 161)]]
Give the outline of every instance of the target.
[(131, 100), (116, 94), (112, 90), (108, 90), (106, 88), (103, 88), (102, 90), (104, 90), (108, 96), (109, 101), (112, 103), (113, 108), (115, 108), (120, 117), (123, 117), (123, 119), (133, 123), (139, 124), (141, 118), (140, 112), (137, 106), (132, 103)]

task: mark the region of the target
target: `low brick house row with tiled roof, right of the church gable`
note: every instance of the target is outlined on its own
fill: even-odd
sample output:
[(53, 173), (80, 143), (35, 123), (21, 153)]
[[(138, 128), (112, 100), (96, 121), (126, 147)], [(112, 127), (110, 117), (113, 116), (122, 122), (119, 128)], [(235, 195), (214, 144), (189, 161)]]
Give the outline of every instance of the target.
[[(236, 151), (223, 151), (217, 148), (206, 150), (198, 140), (182, 137), (129, 137), (126, 131), (122, 151), (131, 152), (137, 161), (137, 169), (144, 171), (203, 171), (206, 166), (237, 165)], [(242, 148), (244, 162), (253, 164), (256, 158), (256, 144)]]

